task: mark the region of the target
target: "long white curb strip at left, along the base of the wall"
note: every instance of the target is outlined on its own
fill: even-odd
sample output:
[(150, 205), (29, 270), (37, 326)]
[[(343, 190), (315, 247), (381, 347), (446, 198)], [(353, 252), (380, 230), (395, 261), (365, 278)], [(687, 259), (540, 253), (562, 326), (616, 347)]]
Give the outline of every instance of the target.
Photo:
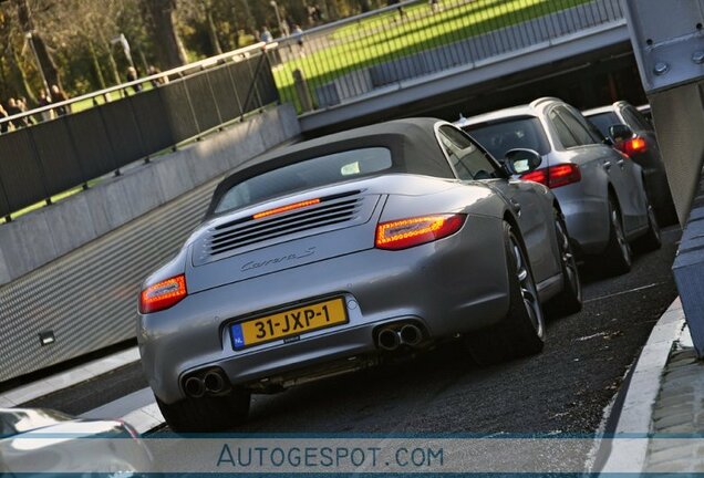
[(136, 346), (84, 363), (65, 372), (0, 394), (0, 408), (11, 408), (54, 392), (77, 385), (139, 360)]

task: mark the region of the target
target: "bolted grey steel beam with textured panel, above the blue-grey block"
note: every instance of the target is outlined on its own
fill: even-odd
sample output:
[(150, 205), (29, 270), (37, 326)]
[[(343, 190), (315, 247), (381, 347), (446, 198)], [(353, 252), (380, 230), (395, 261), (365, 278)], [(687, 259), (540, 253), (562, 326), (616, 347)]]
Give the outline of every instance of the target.
[(684, 225), (704, 159), (704, 0), (627, 0), (625, 15)]

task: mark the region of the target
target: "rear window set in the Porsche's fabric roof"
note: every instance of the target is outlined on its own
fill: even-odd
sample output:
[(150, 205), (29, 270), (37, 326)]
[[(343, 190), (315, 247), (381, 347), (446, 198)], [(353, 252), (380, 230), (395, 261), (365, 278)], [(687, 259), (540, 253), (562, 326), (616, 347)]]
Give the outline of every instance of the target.
[(391, 150), (367, 147), (334, 153), (283, 166), (232, 186), (215, 208), (215, 214), (239, 209), (298, 190), (374, 176), (391, 168)]

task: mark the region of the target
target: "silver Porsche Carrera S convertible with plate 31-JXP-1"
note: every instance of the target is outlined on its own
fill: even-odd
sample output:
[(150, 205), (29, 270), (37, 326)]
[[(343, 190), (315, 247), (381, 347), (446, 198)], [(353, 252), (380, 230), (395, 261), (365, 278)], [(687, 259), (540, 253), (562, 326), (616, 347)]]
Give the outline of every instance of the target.
[(543, 308), (581, 308), (545, 186), (432, 118), (289, 146), (217, 187), (203, 225), (143, 284), (144, 371), (177, 432), (229, 429), (251, 393), (462, 340), (479, 363), (538, 353)]

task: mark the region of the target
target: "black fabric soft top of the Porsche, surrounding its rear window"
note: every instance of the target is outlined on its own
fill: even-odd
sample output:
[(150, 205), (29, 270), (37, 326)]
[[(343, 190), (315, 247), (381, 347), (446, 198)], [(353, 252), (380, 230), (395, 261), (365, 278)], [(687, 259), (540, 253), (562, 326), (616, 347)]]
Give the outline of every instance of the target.
[(276, 149), (242, 164), (216, 188), (207, 216), (232, 186), (282, 166), (365, 147), (386, 147), (393, 166), (389, 173), (454, 177), (435, 137), (436, 118), (408, 118), (363, 126)]

